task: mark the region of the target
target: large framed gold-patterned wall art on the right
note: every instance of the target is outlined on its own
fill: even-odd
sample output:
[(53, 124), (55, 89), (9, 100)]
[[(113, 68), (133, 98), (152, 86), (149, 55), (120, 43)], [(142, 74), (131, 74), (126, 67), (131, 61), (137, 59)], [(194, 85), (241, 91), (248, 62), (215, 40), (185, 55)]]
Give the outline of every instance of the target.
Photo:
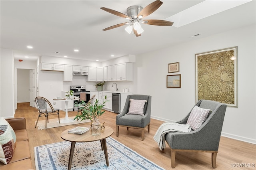
[(237, 49), (196, 54), (196, 101), (207, 99), (238, 107)]

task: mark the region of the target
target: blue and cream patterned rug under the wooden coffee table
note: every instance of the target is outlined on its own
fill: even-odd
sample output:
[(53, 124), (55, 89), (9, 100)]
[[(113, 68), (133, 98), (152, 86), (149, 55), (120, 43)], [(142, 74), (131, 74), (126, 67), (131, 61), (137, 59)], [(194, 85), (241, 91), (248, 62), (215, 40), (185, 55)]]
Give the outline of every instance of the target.
[[(100, 141), (76, 143), (72, 170), (164, 170), (120, 142), (106, 138), (109, 166)], [(66, 170), (71, 142), (36, 146), (36, 170)]]

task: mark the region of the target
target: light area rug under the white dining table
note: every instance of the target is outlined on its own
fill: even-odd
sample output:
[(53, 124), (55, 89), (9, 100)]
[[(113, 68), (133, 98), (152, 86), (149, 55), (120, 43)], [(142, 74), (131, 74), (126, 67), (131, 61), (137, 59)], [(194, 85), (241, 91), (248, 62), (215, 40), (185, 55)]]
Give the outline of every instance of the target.
[[(68, 117), (69, 119), (74, 119), (75, 117)], [(45, 118), (42, 117), (41, 119), (44, 119), (44, 120), (41, 120), (41, 121), (38, 121), (37, 123), (37, 129), (45, 129)], [(63, 119), (63, 118), (62, 118)], [(40, 118), (39, 118), (40, 120)], [(74, 121), (74, 122), (71, 122), (71, 123), (58, 123), (57, 119), (49, 119), (49, 123), (47, 123), (47, 128), (54, 128), (54, 127), (63, 127), (63, 126), (67, 126), (67, 125), (75, 125), (75, 124), (79, 124), (79, 123), (87, 123), (87, 122), (91, 122), (89, 119), (88, 120), (78, 120), (78, 121)], [(36, 121), (35, 121), (35, 125), (36, 125)]]

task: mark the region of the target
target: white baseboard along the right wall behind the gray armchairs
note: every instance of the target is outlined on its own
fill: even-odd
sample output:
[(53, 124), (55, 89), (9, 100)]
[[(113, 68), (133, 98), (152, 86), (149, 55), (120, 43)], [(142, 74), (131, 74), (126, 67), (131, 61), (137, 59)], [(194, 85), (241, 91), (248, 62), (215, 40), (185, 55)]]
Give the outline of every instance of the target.
[[(152, 116), (151, 118), (159, 120), (159, 121), (164, 121), (164, 122), (176, 122), (176, 121), (172, 121), (172, 120), (168, 120), (168, 119), (162, 119), (162, 118), (156, 117), (156, 116)], [(230, 134), (230, 133), (222, 132), (221, 136), (224, 136), (224, 137), (227, 137), (227, 138), (232, 138), (232, 139), (235, 139), (235, 140), (240, 140), (240, 141), (243, 141), (243, 142), (248, 142), (248, 143), (256, 144), (256, 140), (255, 139), (246, 138), (244, 136), (238, 136), (236, 134)]]

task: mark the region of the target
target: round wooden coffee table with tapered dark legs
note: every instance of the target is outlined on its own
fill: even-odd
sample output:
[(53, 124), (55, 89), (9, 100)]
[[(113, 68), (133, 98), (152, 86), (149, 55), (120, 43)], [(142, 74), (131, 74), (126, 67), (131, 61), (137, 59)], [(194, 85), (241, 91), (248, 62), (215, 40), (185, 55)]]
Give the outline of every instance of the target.
[[(88, 126), (81, 126), (81, 127), (88, 127)], [(69, 128), (69, 129), (65, 130), (64, 132), (62, 132), (62, 134), (61, 134), (62, 139), (71, 142), (70, 156), (69, 156), (69, 161), (68, 161), (68, 170), (71, 169), (72, 158), (73, 158), (76, 142), (93, 142), (96, 140), (100, 140), (101, 149), (104, 150), (106, 164), (107, 164), (107, 166), (109, 166), (106, 138), (111, 136), (114, 133), (114, 130), (111, 127), (105, 126), (104, 131), (101, 132), (101, 134), (98, 136), (92, 136), (92, 130), (84, 132), (83, 134), (68, 133), (68, 130), (71, 130), (71, 129), (72, 128)]]

